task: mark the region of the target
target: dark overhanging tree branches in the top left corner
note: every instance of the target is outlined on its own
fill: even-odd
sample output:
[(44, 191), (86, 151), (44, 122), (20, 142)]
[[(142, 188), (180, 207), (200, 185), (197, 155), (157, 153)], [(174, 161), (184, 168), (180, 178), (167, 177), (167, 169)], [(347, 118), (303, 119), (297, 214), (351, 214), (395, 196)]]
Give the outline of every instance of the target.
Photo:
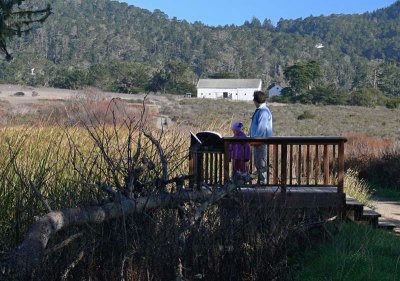
[(51, 14), (50, 4), (44, 9), (30, 9), (24, 3), (25, 0), (0, 1), (0, 51), (5, 54), (6, 60), (12, 59), (6, 41), (29, 33), (33, 24), (43, 23)]

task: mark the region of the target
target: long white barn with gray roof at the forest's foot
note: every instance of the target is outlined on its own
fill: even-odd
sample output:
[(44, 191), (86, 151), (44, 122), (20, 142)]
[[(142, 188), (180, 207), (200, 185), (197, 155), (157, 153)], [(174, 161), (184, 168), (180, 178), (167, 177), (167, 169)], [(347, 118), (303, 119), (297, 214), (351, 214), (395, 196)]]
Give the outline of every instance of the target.
[(197, 97), (251, 101), (261, 87), (261, 79), (199, 79)]

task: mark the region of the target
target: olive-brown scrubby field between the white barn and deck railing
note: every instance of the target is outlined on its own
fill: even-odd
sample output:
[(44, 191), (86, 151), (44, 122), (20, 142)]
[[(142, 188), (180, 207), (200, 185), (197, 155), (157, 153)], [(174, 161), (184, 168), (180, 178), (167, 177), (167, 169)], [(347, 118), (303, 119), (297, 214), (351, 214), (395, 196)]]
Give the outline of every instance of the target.
[[(270, 104), (275, 136), (332, 136), (358, 132), (369, 136), (400, 139), (400, 108)], [(252, 102), (184, 99), (161, 107), (161, 113), (182, 125), (199, 130), (210, 127), (230, 135), (229, 124), (250, 125)], [(309, 116), (299, 119), (299, 116)]]

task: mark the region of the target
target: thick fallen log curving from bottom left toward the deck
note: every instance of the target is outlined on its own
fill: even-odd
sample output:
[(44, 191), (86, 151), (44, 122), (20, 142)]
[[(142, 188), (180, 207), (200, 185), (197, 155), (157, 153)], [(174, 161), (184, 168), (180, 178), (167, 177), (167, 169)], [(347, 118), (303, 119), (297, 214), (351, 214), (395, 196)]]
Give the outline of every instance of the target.
[[(2, 276), (29, 277), (35, 267), (40, 264), (49, 239), (62, 229), (85, 224), (100, 224), (114, 218), (156, 208), (177, 208), (180, 204), (187, 202), (203, 203), (196, 212), (196, 217), (198, 217), (199, 212), (204, 212), (206, 206), (216, 203), (235, 189), (236, 184), (229, 183), (223, 188), (213, 190), (183, 189), (177, 193), (124, 199), (102, 206), (52, 211), (39, 218), (31, 226), (22, 244), (5, 255), (0, 264), (1, 274)], [(204, 204), (207, 201), (210, 202)]]

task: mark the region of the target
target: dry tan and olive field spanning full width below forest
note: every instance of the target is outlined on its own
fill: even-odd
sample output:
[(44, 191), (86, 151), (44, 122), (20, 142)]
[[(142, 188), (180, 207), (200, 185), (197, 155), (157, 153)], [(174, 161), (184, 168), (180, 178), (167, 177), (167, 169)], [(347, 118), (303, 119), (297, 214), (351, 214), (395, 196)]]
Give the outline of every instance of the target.
[[(93, 110), (101, 112), (102, 101), (118, 98), (127, 107), (140, 107), (144, 95), (124, 95), (104, 93), (88, 88), (81, 91), (58, 89), (21, 88), (0, 85), (0, 118), (2, 124), (34, 123), (35, 120), (47, 120), (48, 116), (67, 118), (66, 109), (76, 101), (86, 100)], [(37, 97), (27, 94), (25, 97), (13, 97), (12, 93), (24, 91), (37, 92)], [(146, 104), (152, 115), (169, 116), (173, 123), (185, 129), (216, 130), (230, 135), (229, 124), (242, 121), (246, 127), (254, 111), (252, 102), (229, 100), (210, 100), (183, 98), (176, 95), (148, 95)], [(97, 109), (96, 109), (97, 108)], [(316, 106), (303, 104), (270, 104), (274, 117), (274, 135), (276, 136), (328, 136), (345, 133), (361, 133), (367, 136), (400, 138), (400, 108), (358, 107), (358, 106)], [(311, 118), (298, 119), (310, 114)], [(70, 113), (69, 113), (70, 114)], [(314, 117), (312, 117), (314, 116)], [(54, 118), (59, 121), (59, 118)]]

